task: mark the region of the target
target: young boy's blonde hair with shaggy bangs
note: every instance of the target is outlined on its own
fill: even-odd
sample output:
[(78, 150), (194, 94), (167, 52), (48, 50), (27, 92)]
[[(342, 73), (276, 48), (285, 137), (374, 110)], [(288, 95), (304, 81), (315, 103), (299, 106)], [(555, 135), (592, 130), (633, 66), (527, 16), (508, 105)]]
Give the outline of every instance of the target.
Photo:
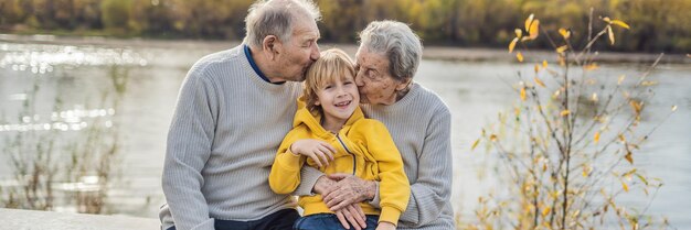
[(305, 90), (302, 92), (307, 109), (312, 112), (322, 112), (321, 107), (315, 105), (319, 99), (317, 92), (327, 84), (336, 81), (337, 77), (344, 80), (348, 74), (350, 74), (354, 80), (354, 63), (346, 52), (339, 48), (330, 48), (321, 52), (321, 57), (307, 70), (307, 77), (304, 84)]

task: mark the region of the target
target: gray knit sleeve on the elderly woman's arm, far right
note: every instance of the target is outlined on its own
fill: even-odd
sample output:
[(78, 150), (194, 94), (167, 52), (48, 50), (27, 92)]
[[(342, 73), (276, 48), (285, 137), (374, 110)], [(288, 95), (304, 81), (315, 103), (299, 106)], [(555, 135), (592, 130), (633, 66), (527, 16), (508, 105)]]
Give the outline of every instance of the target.
[(418, 155), (418, 177), (411, 185), (411, 200), (401, 217), (411, 227), (421, 227), (439, 217), (451, 194), (451, 116), (448, 108), (434, 112)]

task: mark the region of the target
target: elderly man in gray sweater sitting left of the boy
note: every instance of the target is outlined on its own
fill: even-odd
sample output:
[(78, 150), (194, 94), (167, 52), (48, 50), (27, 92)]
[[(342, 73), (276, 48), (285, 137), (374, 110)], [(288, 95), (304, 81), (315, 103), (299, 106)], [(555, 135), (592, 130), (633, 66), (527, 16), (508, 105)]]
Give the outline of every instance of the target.
[(261, 0), (242, 45), (196, 62), (180, 89), (163, 166), (162, 228), (290, 229), (295, 201), (268, 175), (319, 58), (310, 0)]

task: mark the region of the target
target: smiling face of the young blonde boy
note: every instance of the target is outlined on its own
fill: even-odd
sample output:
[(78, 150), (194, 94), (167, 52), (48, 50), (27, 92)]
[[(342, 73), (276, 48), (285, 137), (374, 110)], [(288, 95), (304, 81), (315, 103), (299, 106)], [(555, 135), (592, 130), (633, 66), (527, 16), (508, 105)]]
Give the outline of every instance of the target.
[(315, 105), (321, 107), (325, 123), (346, 123), (360, 105), (360, 94), (351, 74), (322, 86), (317, 97)]

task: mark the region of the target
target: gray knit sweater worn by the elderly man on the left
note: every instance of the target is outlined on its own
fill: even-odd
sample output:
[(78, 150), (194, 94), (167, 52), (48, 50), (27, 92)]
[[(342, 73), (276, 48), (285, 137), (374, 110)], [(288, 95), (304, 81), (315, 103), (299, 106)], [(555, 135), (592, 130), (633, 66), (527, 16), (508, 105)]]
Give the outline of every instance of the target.
[(295, 208), (268, 174), (290, 131), (298, 83), (274, 85), (253, 70), (243, 45), (200, 59), (182, 83), (168, 133), (163, 229), (213, 229)]

